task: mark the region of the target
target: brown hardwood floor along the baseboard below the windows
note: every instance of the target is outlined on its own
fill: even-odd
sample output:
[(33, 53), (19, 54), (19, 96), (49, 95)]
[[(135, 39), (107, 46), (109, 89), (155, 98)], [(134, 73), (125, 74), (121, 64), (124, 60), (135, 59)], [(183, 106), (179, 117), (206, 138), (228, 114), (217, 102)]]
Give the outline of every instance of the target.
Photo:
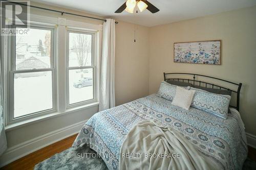
[[(3, 169), (34, 169), (34, 166), (47, 159), (50, 158), (51, 156), (55, 155), (56, 153), (62, 152), (68, 148), (71, 147), (71, 145), (73, 144), (76, 135), (70, 136), (66, 139), (60, 140), (56, 143), (53, 143), (51, 145), (49, 145), (48, 147), (42, 148), (38, 151), (35, 151), (23, 158), (20, 158), (2, 168), (0, 168), (1, 170)], [(248, 157), (254, 161), (256, 161), (256, 149), (249, 147), (249, 153), (248, 153)]]

